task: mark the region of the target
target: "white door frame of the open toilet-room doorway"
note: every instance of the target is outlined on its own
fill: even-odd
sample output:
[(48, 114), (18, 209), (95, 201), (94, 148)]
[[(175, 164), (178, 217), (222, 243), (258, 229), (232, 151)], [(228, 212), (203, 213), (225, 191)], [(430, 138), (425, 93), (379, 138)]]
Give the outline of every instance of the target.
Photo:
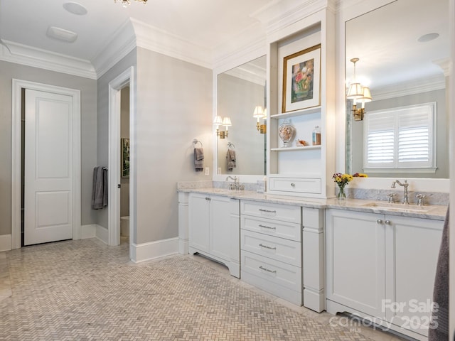
[(107, 226), (108, 244), (111, 246), (120, 244), (120, 97), (121, 90), (129, 84), (129, 258), (132, 259), (132, 245), (134, 244), (136, 216), (134, 208), (136, 199), (135, 186), (135, 83), (134, 67), (124, 70), (120, 75), (109, 82), (109, 161), (108, 161), (108, 202)]

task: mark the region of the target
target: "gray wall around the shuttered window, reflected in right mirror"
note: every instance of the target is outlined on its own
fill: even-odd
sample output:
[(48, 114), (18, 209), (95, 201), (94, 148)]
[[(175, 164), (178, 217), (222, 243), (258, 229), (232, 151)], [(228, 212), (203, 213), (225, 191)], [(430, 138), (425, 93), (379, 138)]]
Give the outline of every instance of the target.
[[(383, 173), (368, 173), (370, 177), (405, 177), (405, 178), (449, 178), (449, 121), (446, 114), (446, 90), (435, 90), (421, 94), (412, 94), (391, 99), (382, 99), (365, 104), (365, 115), (380, 109), (405, 107), (412, 104), (427, 102), (437, 102), (437, 171), (435, 174), (422, 173), (393, 173), (387, 175)], [(352, 146), (353, 167), (352, 173), (363, 173), (363, 121), (352, 121)]]

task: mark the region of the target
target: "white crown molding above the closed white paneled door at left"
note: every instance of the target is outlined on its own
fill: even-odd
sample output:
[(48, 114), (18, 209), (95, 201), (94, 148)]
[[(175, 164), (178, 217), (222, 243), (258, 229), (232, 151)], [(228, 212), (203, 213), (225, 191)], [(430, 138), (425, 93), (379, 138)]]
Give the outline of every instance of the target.
[(97, 73), (90, 60), (53, 53), (48, 50), (33, 48), (9, 40), (1, 40), (1, 43), (0, 60), (90, 78), (92, 80), (97, 79)]

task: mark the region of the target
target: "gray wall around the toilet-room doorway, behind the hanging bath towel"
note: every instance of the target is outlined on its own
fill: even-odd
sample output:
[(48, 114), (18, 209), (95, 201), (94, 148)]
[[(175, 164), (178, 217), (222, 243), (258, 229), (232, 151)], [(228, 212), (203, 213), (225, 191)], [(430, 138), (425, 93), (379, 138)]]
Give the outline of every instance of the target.
[[(98, 105), (97, 105), (97, 165), (107, 166), (109, 163), (109, 82), (118, 77), (129, 67), (136, 70), (136, 49), (132, 50), (122, 60), (114, 65), (102, 77), (98, 79)], [(134, 85), (133, 85), (134, 86)], [(134, 100), (134, 99), (132, 99)], [(120, 143), (120, 141), (119, 141)], [(97, 224), (107, 228), (107, 207), (95, 211)]]

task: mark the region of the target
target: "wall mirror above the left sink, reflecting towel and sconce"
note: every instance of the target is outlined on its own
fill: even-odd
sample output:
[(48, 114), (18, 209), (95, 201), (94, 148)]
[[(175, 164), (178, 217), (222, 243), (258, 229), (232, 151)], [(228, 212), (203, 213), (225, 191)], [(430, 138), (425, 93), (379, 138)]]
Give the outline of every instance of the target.
[[(265, 56), (217, 75), (217, 114), (229, 117), (228, 137), (217, 138), (217, 173), (265, 175), (266, 134), (257, 129), (255, 107), (266, 103)], [(265, 124), (259, 119), (259, 124)], [(220, 130), (223, 126), (220, 126)], [(235, 163), (228, 158), (235, 153)]]

